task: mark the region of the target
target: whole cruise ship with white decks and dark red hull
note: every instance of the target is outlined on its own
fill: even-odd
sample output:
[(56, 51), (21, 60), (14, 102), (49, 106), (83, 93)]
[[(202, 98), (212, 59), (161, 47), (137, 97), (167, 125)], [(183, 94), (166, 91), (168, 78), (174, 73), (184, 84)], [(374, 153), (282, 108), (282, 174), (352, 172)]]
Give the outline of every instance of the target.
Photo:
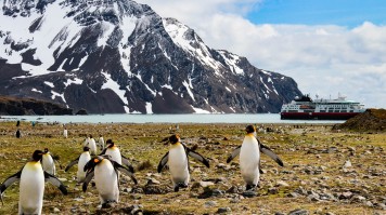
[(314, 100), (309, 95), (304, 95), (284, 104), (280, 116), (282, 120), (347, 120), (364, 111), (364, 105), (346, 100), (342, 95), (335, 99), (317, 96)]

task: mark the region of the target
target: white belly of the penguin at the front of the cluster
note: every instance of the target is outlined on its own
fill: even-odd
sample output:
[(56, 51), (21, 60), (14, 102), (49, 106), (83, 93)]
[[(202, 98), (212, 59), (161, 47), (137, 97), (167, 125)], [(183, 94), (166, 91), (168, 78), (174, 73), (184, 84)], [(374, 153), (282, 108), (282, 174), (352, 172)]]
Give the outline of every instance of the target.
[(118, 202), (118, 178), (113, 164), (104, 159), (94, 170), (95, 186), (102, 204), (107, 201)]

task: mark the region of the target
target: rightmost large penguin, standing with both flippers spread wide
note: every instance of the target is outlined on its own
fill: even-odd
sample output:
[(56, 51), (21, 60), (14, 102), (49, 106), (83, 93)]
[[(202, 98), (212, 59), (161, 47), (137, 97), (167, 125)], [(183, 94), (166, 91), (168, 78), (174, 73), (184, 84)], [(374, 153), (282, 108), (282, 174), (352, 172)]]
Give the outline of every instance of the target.
[(241, 174), (246, 183), (246, 190), (250, 190), (258, 186), (260, 174), (262, 173), (260, 169), (260, 151), (273, 159), (279, 165), (283, 166), (284, 164), (273, 151), (255, 137), (255, 126), (248, 125), (245, 131), (246, 135), (243, 144), (233, 150), (227, 159), (227, 163), (240, 154)]

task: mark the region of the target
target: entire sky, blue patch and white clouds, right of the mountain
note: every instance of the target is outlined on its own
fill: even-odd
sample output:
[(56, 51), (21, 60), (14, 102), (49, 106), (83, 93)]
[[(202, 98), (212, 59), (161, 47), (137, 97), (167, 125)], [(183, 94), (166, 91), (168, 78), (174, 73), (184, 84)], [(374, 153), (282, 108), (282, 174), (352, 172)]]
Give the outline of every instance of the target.
[(386, 0), (137, 0), (304, 94), (386, 108)]

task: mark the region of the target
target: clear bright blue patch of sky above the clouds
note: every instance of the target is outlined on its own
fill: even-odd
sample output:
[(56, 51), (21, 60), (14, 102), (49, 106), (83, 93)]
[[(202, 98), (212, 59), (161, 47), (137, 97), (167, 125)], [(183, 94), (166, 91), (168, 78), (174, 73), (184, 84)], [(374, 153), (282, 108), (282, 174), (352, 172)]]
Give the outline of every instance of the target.
[(265, 0), (250, 8), (255, 24), (338, 25), (353, 28), (363, 22), (385, 25), (383, 0)]

